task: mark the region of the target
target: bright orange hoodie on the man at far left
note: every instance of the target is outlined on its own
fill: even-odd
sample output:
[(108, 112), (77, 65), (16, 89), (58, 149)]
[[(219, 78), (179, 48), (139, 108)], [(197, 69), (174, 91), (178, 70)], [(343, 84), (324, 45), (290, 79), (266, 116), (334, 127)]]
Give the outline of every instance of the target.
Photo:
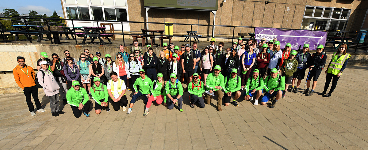
[[(27, 72), (28, 72), (28, 75), (27, 75)], [(28, 65), (25, 65), (24, 68), (21, 65), (15, 66), (13, 69), (13, 75), (14, 75), (15, 82), (17, 82), (18, 86), (21, 87), (22, 89), (36, 85), (35, 71), (33, 70), (32, 67)]]

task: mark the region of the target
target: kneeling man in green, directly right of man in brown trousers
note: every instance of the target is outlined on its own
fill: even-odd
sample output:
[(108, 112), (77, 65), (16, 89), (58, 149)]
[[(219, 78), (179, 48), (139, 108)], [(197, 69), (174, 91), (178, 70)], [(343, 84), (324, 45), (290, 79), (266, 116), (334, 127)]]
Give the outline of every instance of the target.
[[(232, 103), (234, 106), (239, 106), (236, 100), (240, 97), (241, 82), (238, 76), (238, 70), (232, 69), (231, 74), (225, 77), (226, 85), (224, 87), (224, 103), (225, 106), (229, 106)], [(231, 101), (231, 95), (234, 95), (233, 101)]]

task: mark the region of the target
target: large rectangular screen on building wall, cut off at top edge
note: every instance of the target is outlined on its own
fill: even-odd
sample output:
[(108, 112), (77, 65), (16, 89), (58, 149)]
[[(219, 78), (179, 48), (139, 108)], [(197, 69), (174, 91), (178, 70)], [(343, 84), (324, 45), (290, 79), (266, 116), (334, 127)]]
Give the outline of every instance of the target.
[(144, 0), (144, 7), (217, 10), (218, 0)]

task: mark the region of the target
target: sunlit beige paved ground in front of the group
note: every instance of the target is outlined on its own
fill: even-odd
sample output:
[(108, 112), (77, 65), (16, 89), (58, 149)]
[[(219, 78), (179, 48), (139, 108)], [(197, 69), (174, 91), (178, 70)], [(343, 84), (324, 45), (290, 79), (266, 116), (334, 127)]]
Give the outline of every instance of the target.
[(368, 66), (348, 67), (324, 98), (322, 73), (312, 97), (288, 92), (275, 108), (243, 98), (221, 112), (215, 104), (190, 108), (185, 92), (183, 112), (154, 103), (146, 117), (142, 100), (132, 114), (92, 110), (75, 118), (66, 105), (66, 114), (53, 117), (43, 92), (47, 111), (31, 116), (22, 93), (1, 94), (0, 149), (368, 149), (367, 74)]

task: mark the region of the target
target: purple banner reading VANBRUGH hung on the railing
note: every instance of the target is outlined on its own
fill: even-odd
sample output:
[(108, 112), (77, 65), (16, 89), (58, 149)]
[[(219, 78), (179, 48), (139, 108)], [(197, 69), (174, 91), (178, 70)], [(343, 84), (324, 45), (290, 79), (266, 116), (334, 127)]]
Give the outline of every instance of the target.
[(280, 48), (284, 48), (286, 43), (291, 44), (292, 50), (297, 50), (299, 46), (309, 44), (310, 50), (316, 50), (319, 44), (325, 46), (327, 32), (314, 30), (283, 30), (275, 28), (255, 28), (255, 39), (261, 42), (265, 38), (266, 42), (277, 38)]

